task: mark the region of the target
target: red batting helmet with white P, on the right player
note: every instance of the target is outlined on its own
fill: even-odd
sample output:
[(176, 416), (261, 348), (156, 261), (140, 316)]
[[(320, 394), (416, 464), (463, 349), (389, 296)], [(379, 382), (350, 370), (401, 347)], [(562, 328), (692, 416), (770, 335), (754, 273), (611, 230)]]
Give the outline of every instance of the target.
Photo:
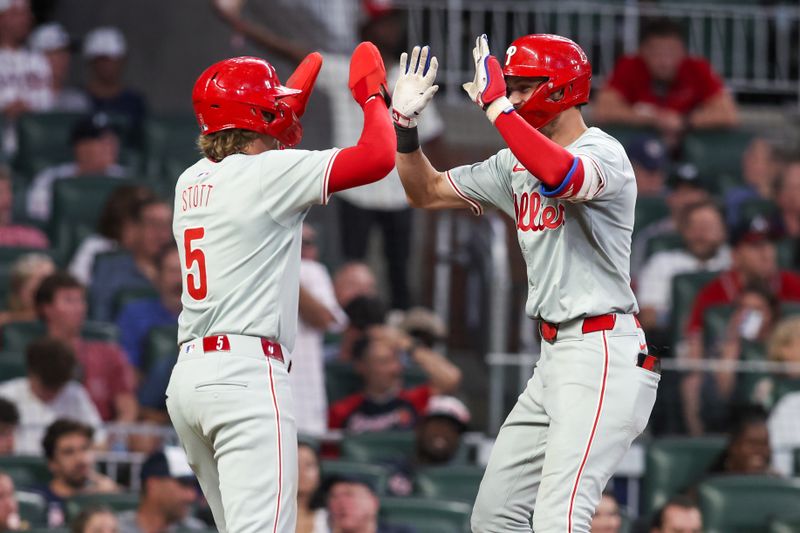
[[(504, 76), (547, 78), (517, 110), (534, 128), (541, 128), (570, 107), (589, 101), (592, 65), (580, 46), (559, 35), (520, 37), (506, 50)], [(553, 95), (563, 89), (564, 95)]]

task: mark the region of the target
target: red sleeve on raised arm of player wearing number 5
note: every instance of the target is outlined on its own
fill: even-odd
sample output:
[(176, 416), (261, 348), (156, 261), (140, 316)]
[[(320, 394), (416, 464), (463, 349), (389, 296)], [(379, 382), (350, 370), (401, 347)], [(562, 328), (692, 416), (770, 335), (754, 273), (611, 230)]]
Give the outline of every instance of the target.
[(328, 193), (360, 187), (386, 177), (394, 168), (397, 138), (383, 99), (373, 97), (364, 104), (364, 128), (358, 144), (336, 155)]

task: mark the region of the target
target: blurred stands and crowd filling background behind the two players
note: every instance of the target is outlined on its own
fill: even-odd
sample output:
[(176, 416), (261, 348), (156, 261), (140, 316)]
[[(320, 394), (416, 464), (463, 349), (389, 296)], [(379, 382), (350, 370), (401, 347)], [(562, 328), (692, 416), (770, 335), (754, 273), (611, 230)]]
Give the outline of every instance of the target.
[[(526, 33), (576, 40), (584, 116), (636, 173), (631, 282), (664, 370), (593, 531), (800, 531), (796, 1), (163, 4), (0, 0), (0, 531), (213, 530), (164, 397), (203, 68), (258, 55), (285, 79), (322, 51), (300, 148), (344, 147), (355, 43), (390, 86), (429, 43), (442, 90), (420, 137), (445, 169), (503, 146), (460, 94), (482, 32), (498, 56)], [(297, 531), (467, 531), (538, 354), (514, 224), (413, 212), (395, 172), (337, 196), (303, 228)]]

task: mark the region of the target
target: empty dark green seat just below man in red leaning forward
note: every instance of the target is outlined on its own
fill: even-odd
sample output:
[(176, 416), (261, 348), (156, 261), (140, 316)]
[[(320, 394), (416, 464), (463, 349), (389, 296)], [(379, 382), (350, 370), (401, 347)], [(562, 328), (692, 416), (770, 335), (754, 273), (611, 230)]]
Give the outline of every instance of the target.
[(741, 130), (700, 130), (686, 135), (684, 157), (697, 167), (701, 176), (715, 178), (720, 174), (741, 176), (742, 153), (753, 135)]

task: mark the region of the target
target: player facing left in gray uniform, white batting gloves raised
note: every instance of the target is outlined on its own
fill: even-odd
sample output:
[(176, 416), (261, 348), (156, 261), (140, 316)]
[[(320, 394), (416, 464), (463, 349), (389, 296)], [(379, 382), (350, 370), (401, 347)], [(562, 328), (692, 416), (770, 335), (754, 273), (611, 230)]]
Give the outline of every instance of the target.
[(464, 89), (508, 148), (439, 172), (415, 132), (437, 89), (428, 55), (403, 54), (393, 93), (409, 201), (512, 217), (527, 264), (526, 313), (542, 337), (533, 377), (497, 436), (472, 530), (588, 532), (605, 484), (647, 425), (660, 379), (630, 288), (631, 164), (619, 142), (583, 122), (577, 106), (588, 101), (591, 66), (577, 44), (528, 35), (501, 66), (483, 35)]

